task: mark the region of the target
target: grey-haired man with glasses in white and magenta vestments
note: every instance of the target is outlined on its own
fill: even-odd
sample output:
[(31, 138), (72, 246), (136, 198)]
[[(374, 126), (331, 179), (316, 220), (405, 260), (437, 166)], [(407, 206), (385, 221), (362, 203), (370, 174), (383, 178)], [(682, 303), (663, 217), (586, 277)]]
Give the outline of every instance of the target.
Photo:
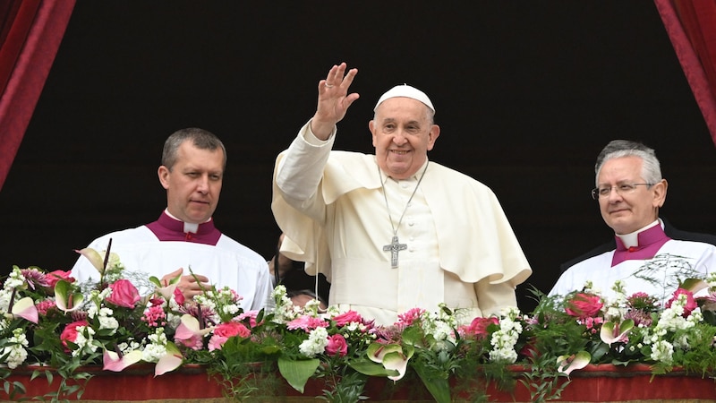
[[(642, 292), (663, 303), (684, 280), (703, 279), (716, 269), (716, 246), (671, 239), (664, 232), (659, 209), (666, 202), (668, 183), (654, 150), (636, 141), (610, 141), (594, 172), (592, 198), (614, 230), (616, 248), (568, 268), (550, 296), (566, 296), (589, 285), (609, 300), (622, 292)], [(619, 293), (614, 289), (617, 281)], [(705, 289), (701, 291), (703, 295)]]

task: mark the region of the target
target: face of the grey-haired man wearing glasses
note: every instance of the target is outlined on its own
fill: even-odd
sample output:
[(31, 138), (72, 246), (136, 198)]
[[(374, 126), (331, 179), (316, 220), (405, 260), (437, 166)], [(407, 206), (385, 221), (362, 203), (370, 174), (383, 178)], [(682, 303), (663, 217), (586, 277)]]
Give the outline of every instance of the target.
[[(643, 160), (629, 156), (609, 159), (597, 176), (598, 186), (644, 184)], [(618, 193), (611, 189), (608, 196), (599, 198), (601, 218), (616, 234), (629, 234), (654, 222), (666, 199), (666, 181), (652, 186), (636, 186), (633, 193)]]

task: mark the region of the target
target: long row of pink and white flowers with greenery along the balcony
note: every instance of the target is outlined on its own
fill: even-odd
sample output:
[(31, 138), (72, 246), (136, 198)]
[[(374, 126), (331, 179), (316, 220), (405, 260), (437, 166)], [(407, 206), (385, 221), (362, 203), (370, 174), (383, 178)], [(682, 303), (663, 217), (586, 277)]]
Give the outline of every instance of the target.
[(472, 319), (441, 304), (376, 326), (355, 312), (321, 311), (317, 301), (295, 306), (283, 286), (274, 290), (275, 306), (260, 312), (244, 311), (242, 297), (226, 287), (186, 300), (174, 281), (151, 278), (155, 292), (140, 296), (115, 253), (78, 252), (98, 268), (98, 283), (17, 266), (4, 279), (0, 377), (11, 399), (27, 390), (8, 376), (30, 364), (47, 367), (37, 376), (63, 379), (43, 399), (80, 399), (83, 382), (91, 382), (82, 371), (88, 365), (121, 372), (143, 362), (157, 376), (201, 364), (237, 401), (280, 393), (286, 384), (303, 393), (318, 379), (321, 398), (333, 402), (367, 399), (370, 377), (413, 379), (438, 402), (486, 399), (489, 382), (501, 390), (521, 382), (533, 401), (545, 401), (558, 399), (570, 373), (587, 364), (702, 376), (716, 367), (716, 275), (685, 279), (663, 305), (643, 293), (627, 296), (620, 283), (608, 300), (587, 283), (567, 296), (533, 290), (538, 304), (529, 314), (511, 308)]

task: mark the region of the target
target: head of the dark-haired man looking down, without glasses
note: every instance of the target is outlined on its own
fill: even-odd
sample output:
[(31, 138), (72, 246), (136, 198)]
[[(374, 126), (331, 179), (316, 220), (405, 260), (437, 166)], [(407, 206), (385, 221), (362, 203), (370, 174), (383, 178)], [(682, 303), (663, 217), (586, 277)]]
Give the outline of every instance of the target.
[(224, 176), (224, 152), (196, 148), (183, 141), (174, 167), (161, 166), (159, 182), (166, 189), (169, 213), (194, 224), (208, 221), (217, 210)]

